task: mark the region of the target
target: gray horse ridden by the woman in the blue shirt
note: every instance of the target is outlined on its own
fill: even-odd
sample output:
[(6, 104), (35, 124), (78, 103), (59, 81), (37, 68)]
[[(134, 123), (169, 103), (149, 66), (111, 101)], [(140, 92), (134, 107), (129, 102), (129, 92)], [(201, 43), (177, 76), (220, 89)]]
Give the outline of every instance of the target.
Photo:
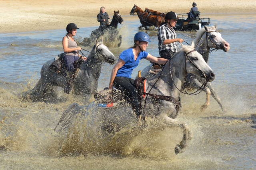
[[(194, 42), (191, 46), (184, 45), (183, 49), (166, 63), (161, 72), (147, 80), (145, 84), (146, 98), (142, 101), (144, 114), (148, 120), (150, 117), (150, 119), (159, 121), (160, 129), (166, 127), (182, 129), (183, 137), (180, 144), (176, 145), (176, 154), (182, 152), (192, 138), (188, 125), (175, 119), (179, 110), (180, 89), (188, 73), (201, 75), (207, 81), (215, 79), (215, 74), (210, 66), (204, 61), (202, 55), (194, 49)], [(63, 113), (55, 130), (57, 132), (69, 131), (68, 129), (73, 127), (77, 120), (86, 122), (86, 126), (89, 128), (95, 128), (95, 123), (100, 124), (99, 127), (107, 132), (136, 125), (137, 120), (130, 106), (101, 106), (101, 104), (95, 103), (88, 106), (72, 104)], [(88, 117), (91, 118), (88, 119)], [(76, 125), (76, 127), (80, 126)]]

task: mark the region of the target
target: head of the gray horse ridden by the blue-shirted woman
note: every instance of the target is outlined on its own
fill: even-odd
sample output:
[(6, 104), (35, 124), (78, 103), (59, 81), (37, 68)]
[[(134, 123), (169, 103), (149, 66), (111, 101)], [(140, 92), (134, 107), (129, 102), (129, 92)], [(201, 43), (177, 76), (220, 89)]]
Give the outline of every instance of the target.
[(184, 52), (186, 58), (185, 70), (187, 73), (197, 74), (208, 82), (215, 79), (215, 73), (212, 68), (204, 61), (202, 55), (194, 49), (194, 41), (192, 41), (191, 46), (182, 45), (180, 51)]

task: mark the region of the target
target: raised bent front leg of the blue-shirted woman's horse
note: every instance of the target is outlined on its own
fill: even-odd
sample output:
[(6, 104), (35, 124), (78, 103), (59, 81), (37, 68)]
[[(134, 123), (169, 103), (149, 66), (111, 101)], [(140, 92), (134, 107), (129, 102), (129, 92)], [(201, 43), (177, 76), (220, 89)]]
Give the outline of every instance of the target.
[(167, 115), (164, 115), (163, 117), (161, 117), (161, 119), (163, 119), (164, 124), (168, 127), (172, 127), (172, 128), (176, 127), (176, 128), (182, 129), (182, 132), (183, 132), (182, 141), (180, 141), (179, 145), (176, 145), (174, 151), (175, 151), (175, 154), (183, 152), (184, 148), (187, 146), (188, 141), (192, 139), (192, 131), (189, 129), (187, 123), (180, 122), (177, 119), (172, 119)]

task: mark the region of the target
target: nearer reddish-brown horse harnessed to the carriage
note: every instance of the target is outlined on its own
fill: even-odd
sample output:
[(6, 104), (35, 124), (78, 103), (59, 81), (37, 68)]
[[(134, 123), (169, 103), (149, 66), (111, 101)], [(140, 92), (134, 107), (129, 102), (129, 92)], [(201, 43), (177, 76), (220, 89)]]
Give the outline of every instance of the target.
[(148, 12), (144, 12), (141, 8), (134, 4), (130, 15), (133, 15), (135, 12), (137, 12), (140, 23), (146, 30), (148, 30), (147, 26), (160, 27), (160, 24), (164, 22), (164, 17), (148, 14)]

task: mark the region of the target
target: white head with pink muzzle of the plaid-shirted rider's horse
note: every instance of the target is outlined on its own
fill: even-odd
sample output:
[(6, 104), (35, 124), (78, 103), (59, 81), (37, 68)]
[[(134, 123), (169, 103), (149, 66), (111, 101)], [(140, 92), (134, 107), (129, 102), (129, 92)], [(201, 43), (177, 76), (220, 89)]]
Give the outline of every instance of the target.
[(208, 47), (222, 49), (224, 52), (227, 52), (230, 49), (229, 43), (227, 43), (221, 37), (221, 34), (218, 31), (216, 31), (216, 28), (216, 23), (213, 27), (207, 27), (206, 25), (204, 25)]

